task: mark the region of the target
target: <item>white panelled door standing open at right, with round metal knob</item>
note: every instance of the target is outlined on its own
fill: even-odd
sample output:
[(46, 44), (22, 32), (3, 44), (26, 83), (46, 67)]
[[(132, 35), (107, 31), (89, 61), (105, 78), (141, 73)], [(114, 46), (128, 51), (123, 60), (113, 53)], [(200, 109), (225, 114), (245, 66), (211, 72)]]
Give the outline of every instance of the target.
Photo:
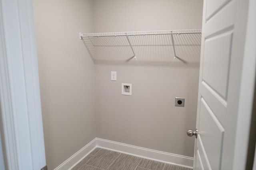
[[(247, 103), (242, 100), (241, 94), (246, 89), (242, 80), (246, 69), (243, 64), (247, 57), (244, 53), (249, 1), (204, 0), (194, 170), (242, 170), (245, 167), (247, 147), (244, 143), (248, 141), (250, 117), (247, 124), (243, 122), (245, 134), (238, 136), (237, 133), (243, 119), (239, 110), (244, 109), (246, 116), (254, 92), (252, 81), (248, 84)], [(255, 72), (255, 68), (252, 70)], [(253, 80), (254, 72), (251, 73)], [(244, 146), (237, 146), (239, 142)], [(238, 165), (239, 168), (236, 164), (242, 165)]]

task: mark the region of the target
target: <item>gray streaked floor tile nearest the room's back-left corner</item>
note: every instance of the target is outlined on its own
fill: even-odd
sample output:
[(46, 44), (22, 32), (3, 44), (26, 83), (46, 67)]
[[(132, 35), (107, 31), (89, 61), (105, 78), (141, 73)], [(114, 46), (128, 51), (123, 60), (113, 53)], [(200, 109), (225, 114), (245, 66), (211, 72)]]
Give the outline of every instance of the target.
[(112, 150), (99, 149), (86, 164), (107, 169), (119, 155), (120, 153)]

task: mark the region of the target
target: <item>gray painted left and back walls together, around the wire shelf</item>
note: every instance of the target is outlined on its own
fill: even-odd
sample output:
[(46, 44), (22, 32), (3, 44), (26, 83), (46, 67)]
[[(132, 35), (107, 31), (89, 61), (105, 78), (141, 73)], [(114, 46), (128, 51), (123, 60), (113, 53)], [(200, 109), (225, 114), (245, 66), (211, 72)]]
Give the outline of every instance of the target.
[[(34, 14), (49, 169), (95, 137), (193, 156), (186, 130), (196, 124), (199, 56), (94, 64), (78, 33), (200, 29), (202, 0), (34, 0)], [(121, 95), (122, 82), (132, 96)]]

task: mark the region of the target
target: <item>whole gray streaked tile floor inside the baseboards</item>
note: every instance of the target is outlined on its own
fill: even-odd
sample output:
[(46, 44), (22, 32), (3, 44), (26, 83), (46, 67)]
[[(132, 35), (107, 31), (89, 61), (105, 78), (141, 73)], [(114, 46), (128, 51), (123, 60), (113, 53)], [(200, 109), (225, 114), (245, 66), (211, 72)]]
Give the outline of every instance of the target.
[(72, 170), (192, 170), (101, 148), (94, 149)]

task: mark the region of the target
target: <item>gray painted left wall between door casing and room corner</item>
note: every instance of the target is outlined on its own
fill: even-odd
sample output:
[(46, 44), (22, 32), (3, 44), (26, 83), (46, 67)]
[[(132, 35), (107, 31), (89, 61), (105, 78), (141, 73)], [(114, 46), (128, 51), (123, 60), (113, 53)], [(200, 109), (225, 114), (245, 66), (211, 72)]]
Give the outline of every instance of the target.
[(94, 64), (79, 32), (92, 0), (34, 0), (46, 162), (52, 170), (96, 137)]

